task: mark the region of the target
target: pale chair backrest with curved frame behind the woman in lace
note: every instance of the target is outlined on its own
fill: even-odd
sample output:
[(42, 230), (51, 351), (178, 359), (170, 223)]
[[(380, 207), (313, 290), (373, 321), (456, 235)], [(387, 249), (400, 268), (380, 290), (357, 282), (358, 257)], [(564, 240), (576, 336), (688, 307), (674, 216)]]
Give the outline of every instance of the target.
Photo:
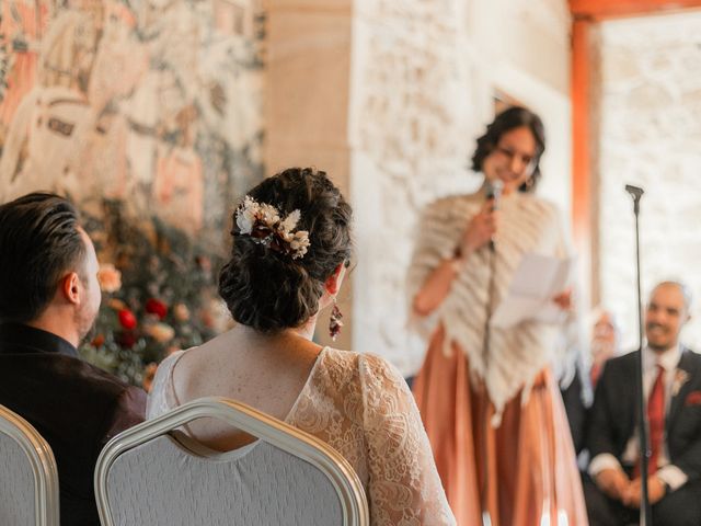
[[(206, 416), (258, 439), (215, 453), (174, 431)], [(223, 398), (194, 400), (114, 437), (97, 459), (95, 498), (103, 526), (369, 525), (363, 485), (336, 450)]]

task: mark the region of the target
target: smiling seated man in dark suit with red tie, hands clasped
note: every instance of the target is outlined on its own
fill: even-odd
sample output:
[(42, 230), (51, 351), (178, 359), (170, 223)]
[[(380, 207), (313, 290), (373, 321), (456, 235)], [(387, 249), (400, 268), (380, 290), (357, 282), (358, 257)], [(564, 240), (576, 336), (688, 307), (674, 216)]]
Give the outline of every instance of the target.
[[(675, 282), (657, 285), (645, 313), (648, 496), (653, 524), (701, 525), (701, 355), (679, 344), (690, 295)], [(591, 526), (637, 524), (641, 479), (636, 353), (611, 358), (597, 384), (584, 489)]]

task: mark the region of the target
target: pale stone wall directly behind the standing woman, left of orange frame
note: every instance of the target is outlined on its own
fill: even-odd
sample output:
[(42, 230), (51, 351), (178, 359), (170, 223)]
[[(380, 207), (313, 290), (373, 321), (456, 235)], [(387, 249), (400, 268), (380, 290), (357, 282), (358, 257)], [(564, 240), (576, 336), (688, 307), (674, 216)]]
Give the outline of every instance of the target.
[[(353, 344), (414, 373), (405, 273), (418, 211), (468, 192), (474, 138), (498, 90), (541, 113), (552, 141), (542, 193), (568, 208), (566, 2), (359, 0), (353, 25), (350, 188), (358, 264)], [(542, 57), (548, 56), (548, 60)]]

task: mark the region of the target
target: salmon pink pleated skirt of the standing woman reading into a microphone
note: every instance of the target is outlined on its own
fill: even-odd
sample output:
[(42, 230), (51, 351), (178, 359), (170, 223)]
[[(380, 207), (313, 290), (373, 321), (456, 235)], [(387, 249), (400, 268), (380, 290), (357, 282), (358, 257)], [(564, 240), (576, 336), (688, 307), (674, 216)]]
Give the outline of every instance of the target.
[(414, 382), (448, 502), (460, 526), (586, 526), (582, 482), (550, 368), (526, 403), (507, 403), (498, 427), (484, 389), (470, 384), (464, 353), (443, 352), (439, 328)]

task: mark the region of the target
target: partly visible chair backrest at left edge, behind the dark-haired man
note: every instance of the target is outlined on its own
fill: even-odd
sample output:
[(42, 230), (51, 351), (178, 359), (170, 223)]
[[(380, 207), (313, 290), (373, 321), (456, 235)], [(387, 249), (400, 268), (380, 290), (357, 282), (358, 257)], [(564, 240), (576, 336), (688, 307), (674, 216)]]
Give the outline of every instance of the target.
[(0, 405), (0, 524), (58, 526), (58, 471), (47, 442)]

